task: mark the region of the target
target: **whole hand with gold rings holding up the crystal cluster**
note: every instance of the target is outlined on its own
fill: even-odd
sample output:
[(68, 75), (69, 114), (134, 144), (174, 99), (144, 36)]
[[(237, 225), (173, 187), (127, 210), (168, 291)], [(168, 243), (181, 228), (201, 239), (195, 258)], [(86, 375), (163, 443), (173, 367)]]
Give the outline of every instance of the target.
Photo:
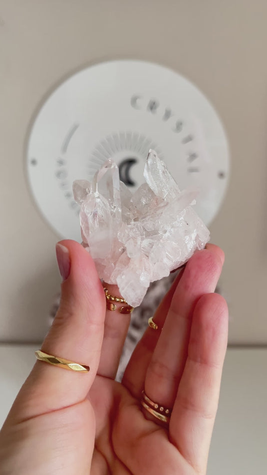
[[(36, 362), (0, 433), (1, 474), (204, 474), (227, 344), (227, 306), (212, 293), (222, 251), (207, 245), (189, 260), (154, 315), (159, 329), (147, 328), (119, 383), (130, 316), (106, 314), (90, 255), (74, 241), (61, 245), (66, 279), (42, 350), (90, 371)], [(141, 409), (143, 389), (173, 408), (169, 426)]]

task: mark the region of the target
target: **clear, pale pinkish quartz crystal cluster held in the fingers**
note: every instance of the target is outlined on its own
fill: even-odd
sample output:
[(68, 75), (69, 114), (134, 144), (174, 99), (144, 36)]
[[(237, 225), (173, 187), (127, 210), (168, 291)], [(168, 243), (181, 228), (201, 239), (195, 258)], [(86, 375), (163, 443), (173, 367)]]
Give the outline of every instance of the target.
[(146, 182), (132, 193), (109, 159), (91, 183), (73, 184), (81, 206), (83, 244), (99, 277), (117, 284), (133, 307), (141, 304), (150, 282), (168, 276), (209, 240), (208, 229), (191, 207), (197, 193), (180, 191), (153, 150), (144, 178)]

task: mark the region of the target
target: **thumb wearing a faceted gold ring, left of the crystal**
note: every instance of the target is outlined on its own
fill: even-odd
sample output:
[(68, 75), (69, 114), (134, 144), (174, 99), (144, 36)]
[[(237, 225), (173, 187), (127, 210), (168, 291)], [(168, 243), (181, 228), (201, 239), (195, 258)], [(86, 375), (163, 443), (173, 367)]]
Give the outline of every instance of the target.
[(61, 241), (56, 252), (63, 278), (61, 301), (41, 350), (89, 366), (90, 371), (67, 371), (37, 361), (14, 404), (20, 419), (84, 400), (99, 365), (106, 301), (94, 262), (75, 241)]

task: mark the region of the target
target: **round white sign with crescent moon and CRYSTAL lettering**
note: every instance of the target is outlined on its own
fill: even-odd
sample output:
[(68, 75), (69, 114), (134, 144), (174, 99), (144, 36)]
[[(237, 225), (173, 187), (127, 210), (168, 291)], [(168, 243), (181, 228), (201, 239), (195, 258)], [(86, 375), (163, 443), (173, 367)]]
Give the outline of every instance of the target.
[(29, 138), (29, 183), (43, 216), (61, 237), (80, 241), (73, 181), (91, 181), (111, 157), (134, 191), (144, 182), (150, 148), (180, 189), (199, 190), (194, 208), (209, 224), (223, 199), (229, 158), (205, 96), (174, 71), (144, 61), (108, 61), (71, 76), (42, 106)]

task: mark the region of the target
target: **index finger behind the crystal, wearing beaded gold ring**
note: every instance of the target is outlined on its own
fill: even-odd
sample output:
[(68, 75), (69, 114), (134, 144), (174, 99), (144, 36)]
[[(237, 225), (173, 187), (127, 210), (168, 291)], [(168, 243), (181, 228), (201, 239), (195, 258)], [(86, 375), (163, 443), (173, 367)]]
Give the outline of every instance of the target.
[[(121, 297), (116, 285), (105, 284), (112, 296)], [(122, 314), (120, 307), (125, 306), (122, 303), (116, 303), (116, 310), (106, 311), (104, 338), (98, 374), (108, 378), (115, 378), (119, 367), (120, 357), (123, 345), (126, 339), (127, 331), (130, 325), (131, 314)]]

